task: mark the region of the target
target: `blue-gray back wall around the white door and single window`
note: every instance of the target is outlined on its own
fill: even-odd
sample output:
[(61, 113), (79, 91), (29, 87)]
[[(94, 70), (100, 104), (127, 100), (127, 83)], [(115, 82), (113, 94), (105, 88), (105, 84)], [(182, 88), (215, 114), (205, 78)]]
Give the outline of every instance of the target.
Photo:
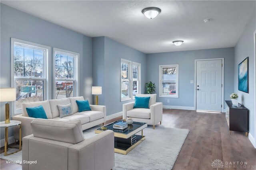
[[(163, 105), (194, 107), (195, 59), (224, 58), (224, 100), (234, 91), (234, 48), (147, 54), (147, 82), (156, 84), (157, 101)], [(159, 65), (179, 64), (179, 98), (159, 98)], [(170, 100), (170, 103), (167, 103)]]

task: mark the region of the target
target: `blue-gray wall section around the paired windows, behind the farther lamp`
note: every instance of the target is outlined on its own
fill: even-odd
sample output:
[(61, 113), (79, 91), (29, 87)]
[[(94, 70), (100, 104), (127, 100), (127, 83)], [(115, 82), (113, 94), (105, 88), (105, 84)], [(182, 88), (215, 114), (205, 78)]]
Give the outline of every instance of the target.
[[(97, 61), (97, 63), (93, 62), (93, 69), (100, 69), (100, 72), (93, 72), (93, 86), (101, 86), (103, 84), (104, 87), (102, 87), (102, 95), (99, 96), (99, 104), (106, 106), (107, 115), (112, 115), (122, 111), (122, 104), (132, 102), (132, 100), (120, 101), (121, 58), (141, 64), (141, 92), (144, 93), (146, 83), (146, 54), (108, 37), (95, 37), (92, 38), (92, 41), (93, 61)], [(102, 47), (103, 41), (104, 47)], [(103, 51), (104, 59), (102, 59)], [(97, 59), (100, 59), (100, 61)], [(104, 68), (104, 71), (102, 71), (102, 68)]]

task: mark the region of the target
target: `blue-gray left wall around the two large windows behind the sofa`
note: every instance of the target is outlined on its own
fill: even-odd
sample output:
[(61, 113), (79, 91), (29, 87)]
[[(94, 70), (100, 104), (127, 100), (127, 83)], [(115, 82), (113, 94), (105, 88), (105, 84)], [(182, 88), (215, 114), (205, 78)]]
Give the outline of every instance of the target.
[[(10, 38), (21, 39), (80, 53), (80, 96), (92, 101), (92, 38), (76, 33), (64, 27), (26, 14), (4, 4), (1, 6), (1, 53), (0, 53), (0, 87), (10, 87)], [(52, 60), (52, 55), (50, 56)], [(49, 69), (53, 71), (53, 63)], [(52, 72), (52, 82), (53, 81)], [(52, 85), (52, 88), (54, 83)], [(52, 95), (53, 97), (53, 95)], [(1, 121), (4, 121), (4, 103), (1, 102)], [(12, 136), (10, 129), (9, 136)], [(4, 130), (1, 128), (1, 139), (4, 139)]]

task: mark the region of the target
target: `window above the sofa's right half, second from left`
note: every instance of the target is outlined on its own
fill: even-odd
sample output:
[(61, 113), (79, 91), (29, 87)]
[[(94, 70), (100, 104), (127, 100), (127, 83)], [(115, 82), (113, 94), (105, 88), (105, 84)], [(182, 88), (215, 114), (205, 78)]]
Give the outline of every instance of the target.
[(78, 96), (78, 53), (54, 48), (54, 98)]

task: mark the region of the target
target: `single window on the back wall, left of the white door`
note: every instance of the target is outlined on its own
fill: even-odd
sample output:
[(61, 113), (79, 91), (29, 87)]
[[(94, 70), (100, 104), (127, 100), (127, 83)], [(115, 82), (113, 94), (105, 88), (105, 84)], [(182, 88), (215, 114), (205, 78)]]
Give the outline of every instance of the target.
[(178, 98), (178, 70), (179, 65), (160, 65), (159, 79), (160, 79), (160, 97)]

